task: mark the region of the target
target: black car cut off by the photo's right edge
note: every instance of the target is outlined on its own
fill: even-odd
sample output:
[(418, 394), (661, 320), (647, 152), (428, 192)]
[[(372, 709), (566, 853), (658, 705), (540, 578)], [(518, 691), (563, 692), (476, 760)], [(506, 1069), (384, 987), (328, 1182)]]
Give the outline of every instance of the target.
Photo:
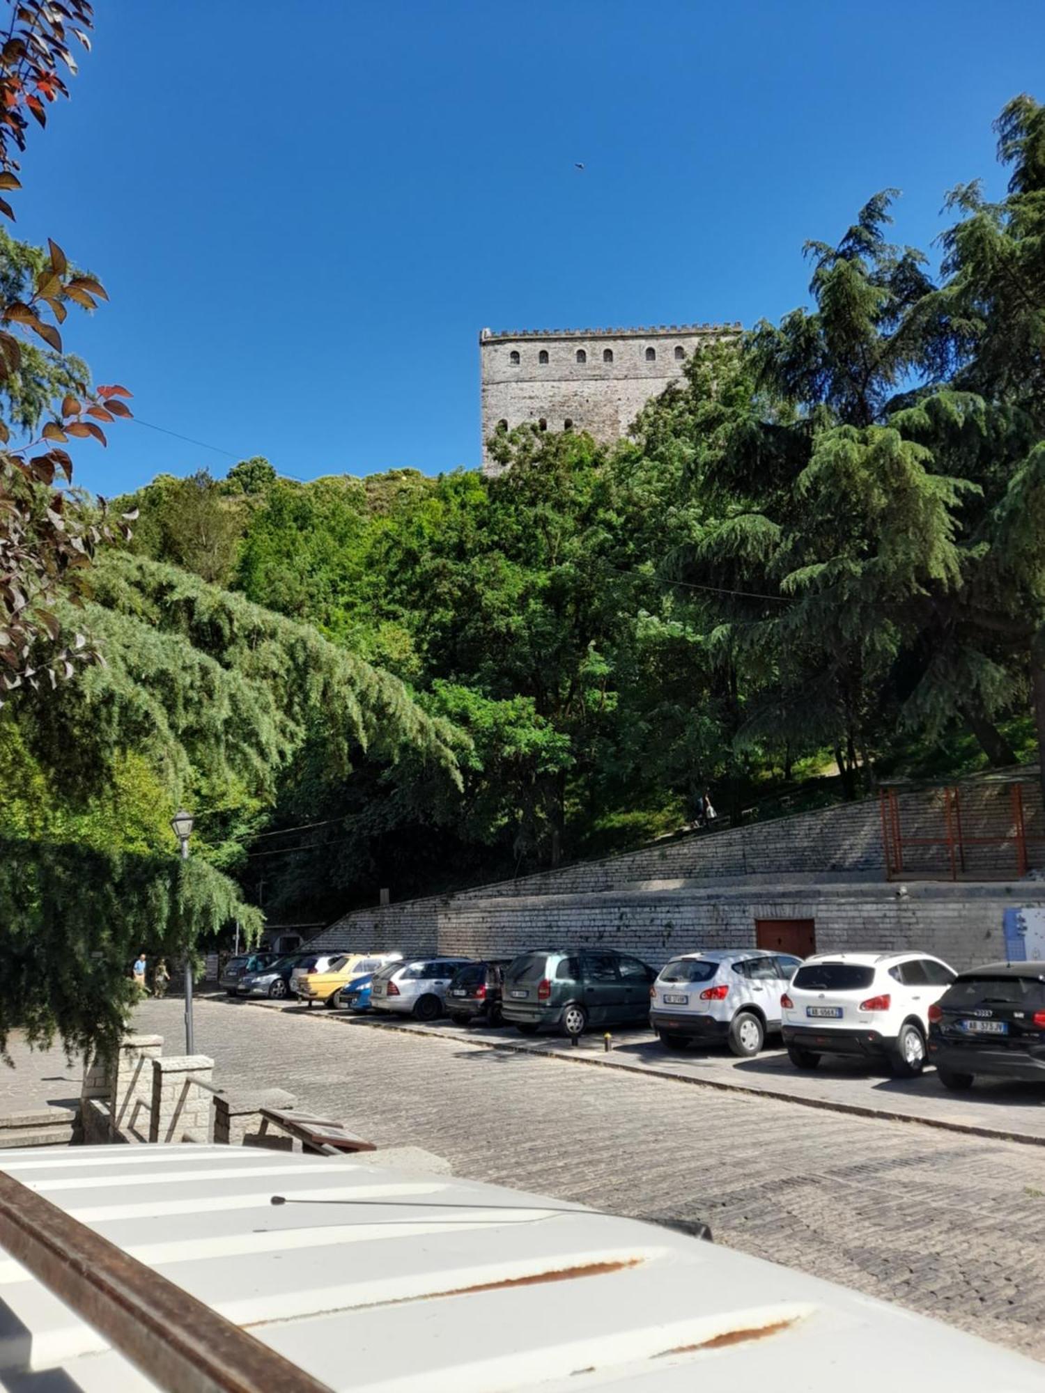
[(929, 1061), (945, 1088), (978, 1074), (1045, 1082), (1045, 963), (960, 972), (929, 1007)]

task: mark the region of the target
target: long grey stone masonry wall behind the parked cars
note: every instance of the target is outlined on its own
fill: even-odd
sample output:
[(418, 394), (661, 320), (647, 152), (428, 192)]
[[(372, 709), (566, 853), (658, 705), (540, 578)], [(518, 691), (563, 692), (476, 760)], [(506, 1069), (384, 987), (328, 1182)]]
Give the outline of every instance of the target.
[[(1002, 827), (1010, 795), (998, 788), (967, 794), (970, 834)], [(1023, 795), (1025, 819), (1037, 826), (1039, 793), (1025, 784)], [(939, 833), (925, 795), (904, 794), (897, 804), (906, 833)], [(314, 943), (470, 957), (605, 943), (659, 965), (687, 949), (754, 944), (755, 919), (797, 918), (815, 921), (818, 949), (921, 947), (966, 967), (1000, 951), (1006, 905), (1045, 904), (1041, 882), (1020, 882), (1012, 844), (998, 843), (995, 851), (993, 873), (1012, 866), (1007, 885), (911, 880), (901, 890), (885, 880), (881, 809), (869, 800), (453, 896), (357, 910)], [(1041, 865), (1044, 853), (1035, 844), (1031, 865)]]

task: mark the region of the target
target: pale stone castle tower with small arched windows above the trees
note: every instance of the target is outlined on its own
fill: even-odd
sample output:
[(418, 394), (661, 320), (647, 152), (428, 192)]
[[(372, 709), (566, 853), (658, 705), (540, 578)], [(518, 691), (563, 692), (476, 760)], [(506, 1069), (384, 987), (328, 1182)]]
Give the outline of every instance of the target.
[(499, 474), (486, 442), (534, 421), (548, 430), (623, 436), (651, 397), (681, 376), (686, 359), (740, 325), (649, 329), (522, 329), (479, 334), (482, 468)]

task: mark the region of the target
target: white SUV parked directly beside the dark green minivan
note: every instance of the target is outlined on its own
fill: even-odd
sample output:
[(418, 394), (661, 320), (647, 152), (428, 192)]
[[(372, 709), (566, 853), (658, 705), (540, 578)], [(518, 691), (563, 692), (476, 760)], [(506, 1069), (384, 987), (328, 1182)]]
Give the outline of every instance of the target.
[(649, 989), (649, 1024), (667, 1049), (725, 1041), (734, 1055), (757, 1055), (780, 1029), (780, 995), (801, 958), (762, 949), (683, 953)]

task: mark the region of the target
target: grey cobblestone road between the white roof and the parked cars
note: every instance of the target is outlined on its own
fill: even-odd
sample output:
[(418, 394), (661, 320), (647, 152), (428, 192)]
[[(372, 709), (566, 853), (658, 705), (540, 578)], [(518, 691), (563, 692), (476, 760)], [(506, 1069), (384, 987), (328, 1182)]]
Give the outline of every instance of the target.
[[(176, 1053), (181, 1010), (148, 1002), (135, 1025)], [(461, 1176), (702, 1219), (719, 1243), (1045, 1360), (1038, 1146), (220, 999), (196, 1003), (195, 1043), (220, 1087), (286, 1088)]]

